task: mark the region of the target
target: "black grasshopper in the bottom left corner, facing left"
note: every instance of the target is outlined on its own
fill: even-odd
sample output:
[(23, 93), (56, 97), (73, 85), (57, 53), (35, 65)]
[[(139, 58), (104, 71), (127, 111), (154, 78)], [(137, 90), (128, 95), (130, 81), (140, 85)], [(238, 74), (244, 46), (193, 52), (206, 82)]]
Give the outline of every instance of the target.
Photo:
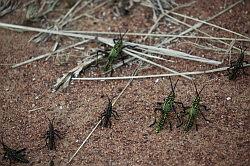
[(3, 142), (3, 138), (1, 144), (4, 150), (3, 160), (9, 160), (10, 165), (12, 164), (12, 162), (29, 163), (29, 160), (25, 158), (26, 148), (20, 150), (12, 149)]

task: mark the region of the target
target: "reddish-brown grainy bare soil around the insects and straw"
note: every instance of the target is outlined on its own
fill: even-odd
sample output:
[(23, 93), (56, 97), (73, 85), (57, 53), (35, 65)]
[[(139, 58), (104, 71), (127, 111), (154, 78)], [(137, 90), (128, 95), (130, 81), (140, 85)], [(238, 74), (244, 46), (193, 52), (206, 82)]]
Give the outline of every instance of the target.
[[(226, 2), (233, 4), (236, 1)], [(221, 0), (199, 0), (195, 5), (178, 12), (206, 19), (221, 11), (223, 6), (224, 1)], [(154, 24), (151, 9), (139, 5), (124, 17), (115, 17), (109, 6), (104, 6), (94, 15), (103, 21), (94, 22), (90, 18), (83, 18), (68, 28), (99, 31), (128, 28), (130, 32), (146, 32)], [(20, 18), (23, 18), (22, 9), (0, 21), (20, 24)], [(250, 36), (250, 3), (239, 4), (211, 22)], [(159, 29), (170, 31), (166, 26), (159, 26)], [(215, 36), (232, 37), (231, 34), (211, 27), (203, 26), (201, 29)], [(10, 67), (11, 64), (47, 53), (51, 49), (54, 44), (52, 40), (42, 44), (28, 42), (34, 34), (0, 29), (1, 132), (7, 145), (17, 149), (27, 148), (27, 158), (30, 160), (28, 165), (48, 165), (53, 156), (55, 165), (66, 165), (105, 109), (107, 99), (102, 97), (103, 94), (117, 96), (127, 81), (73, 81), (68, 88), (52, 93), (51, 87), (56, 79), (76, 65), (74, 58), (63, 65), (58, 65), (51, 58), (16, 69)], [(126, 40), (134, 41), (136, 38), (126, 36)], [(170, 47), (190, 51), (190, 45), (183, 42), (180, 40)], [(195, 48), (192, 53), (218, 60), (221, 58), (219, 54)], [(72, 54), (79, 53), (72, 51)], [(173, 60), (176, 63), (165, 65), (178, 71), (214, 67)], [(250, 62), (249, 56), (246, 56), (246, 60)], [(227, 66), (227, 63), (223, 65)], [(116, 70), (114, 75), (131, 75), (135, 68), (135, 64), (125, 66)], [(246, 72), (250, 73), (250, 69), (247, 68)], [(153, 73), (165, 71), (149, 67), (138, 75)], [(112, 119), (111, 128), (98, 127), (71, 165), (250, 165), (250, 77), (242, 75), (236, 81), (229, 81), (225, 74), (221, 72), (195, 76), (199, 89), (206, 84), (201, 96), (203, 104), (211, 109), (205, 112), (211, 123), (200, 118), (198, 131), (193, 129), (190, 132), (184, 132), (183, 128), (177, 129), (175, 119), (172, 120), (172, 131), (168, 124), (158, 134), (154, 128), (149, 127), (154, 120), (155, 103), (162, 101), (170, 92), (170, 83), (166, 78), (158, 81), (134, 80), (115, 105), (119, 120)], [(81, 76), (85, 75), (98, 73), (93, 69)], [(195, 95), (194, 87), (191, 81), (179, 79), (177, 100), (190, 105)], [(40, 107), (42, 109), (29, 111)], [(48, 118), (53, 117), (54, 126), (61, 131), (63, 139), (56, 142), (57, 149), (51, 152), (46, 147), (43, 135), (48, 128)], [(0, 154), (3, 155), (2, 148)], [(0, 160), (0, 165), (8, 165), (8, 162)]]

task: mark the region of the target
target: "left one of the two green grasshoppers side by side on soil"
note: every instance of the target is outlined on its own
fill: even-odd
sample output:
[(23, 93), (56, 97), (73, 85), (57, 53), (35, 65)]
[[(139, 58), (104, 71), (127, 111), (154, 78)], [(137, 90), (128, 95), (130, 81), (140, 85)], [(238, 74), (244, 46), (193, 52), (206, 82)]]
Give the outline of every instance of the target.
[[(162, 128), (163, 128), (163, 126), (164, 126), (164, 124), (165, 124), (165, 122), (167, 120), (168, 120), (168, 123), (169, 123), (169, 126), (170, 126), (170, 130), (172, 130), (172, 124), (171, 124), (171, 122), (169, 120), (169, 116), (170, 116), (169, 114), (172, 111), (176, 114), (176, 116), (177, 116), (177, 118), (178, 118), (178, 120), (180, 122), (180, 124), (177, 127), (179, 127), (179, 126), (182, 125), (182, 121), (181, 121), (180, 117), (178, 116), (178, 114), (176, 112), (176, 109), (175, 109), (175, 104), (181, 104), (181, 106), (184, 108), (183, 103), (175, 101), (175, 97), (176, 97), (175, 87), (177, 85), (178, 80), (175, 82), (174, 86), (172, 84), (172, 81), (171, 81), (170, 77), (169, 77), (169, 80), (170, 80), (170, 83), (171, 83), (171, 89), (172, 89), (172, 91), (164, 99), (163, 103), (162, 102), (157, 102), (157, 105), (159, 105), (161, 107), (155, 108), (155, 113), (156, 113), (157, 110), (161, 111), (160, 120), (158, 121), (158, 123), (156, 125), (156, 129), (155, 129), (156, 133), (159, 133), (162, 130)], [(150, 127), (153, 126), (155, 123), (156, 123), (156, 119), (155, 119), (154, 123), (150, 125)]]

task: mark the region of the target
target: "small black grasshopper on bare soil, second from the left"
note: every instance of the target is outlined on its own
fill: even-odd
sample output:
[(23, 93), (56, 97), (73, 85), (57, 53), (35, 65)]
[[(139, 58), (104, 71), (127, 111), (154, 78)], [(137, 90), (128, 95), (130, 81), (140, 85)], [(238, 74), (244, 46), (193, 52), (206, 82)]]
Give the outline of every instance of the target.
[(49, 119), (49, 130), (45, 133), (45, 141), (46, 141), (46, 146), (48, 147), (49, 150), (55, 150), (56, 149), (56, 138), (61, 139), (60, 132), (56, 130), (53, 126), (53, 120), (52, 121)]

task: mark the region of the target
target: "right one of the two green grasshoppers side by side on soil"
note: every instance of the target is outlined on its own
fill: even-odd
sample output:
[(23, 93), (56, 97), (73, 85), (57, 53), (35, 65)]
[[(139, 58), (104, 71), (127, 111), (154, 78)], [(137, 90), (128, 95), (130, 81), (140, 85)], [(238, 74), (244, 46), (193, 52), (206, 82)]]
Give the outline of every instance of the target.
[(201, 102), (200, 93), (204, 89), (205, 85), (202, 87), (202, 89), (199, 92), (197, 91), (197, 87), (195, 83), (194, 83), (194, 87), (195, 87), (196, 96), (192, 102), (191, 107), (186, 107), (185, 108), (186, 112), (184, 112), (185, 114), (188, 115), (188, 120), (184, 127), (185, 131), (191, 130), (194, 124), (196, 126), (196, 130), (198, 131), (197, 118), (200, 114), (202, 115), (205, 121), (210, 122), (208, 119), (205, 118), (201, 108), (204, 108), (205, 111), (208, 111), (209, 109), (205, 105), (200, 104)]

